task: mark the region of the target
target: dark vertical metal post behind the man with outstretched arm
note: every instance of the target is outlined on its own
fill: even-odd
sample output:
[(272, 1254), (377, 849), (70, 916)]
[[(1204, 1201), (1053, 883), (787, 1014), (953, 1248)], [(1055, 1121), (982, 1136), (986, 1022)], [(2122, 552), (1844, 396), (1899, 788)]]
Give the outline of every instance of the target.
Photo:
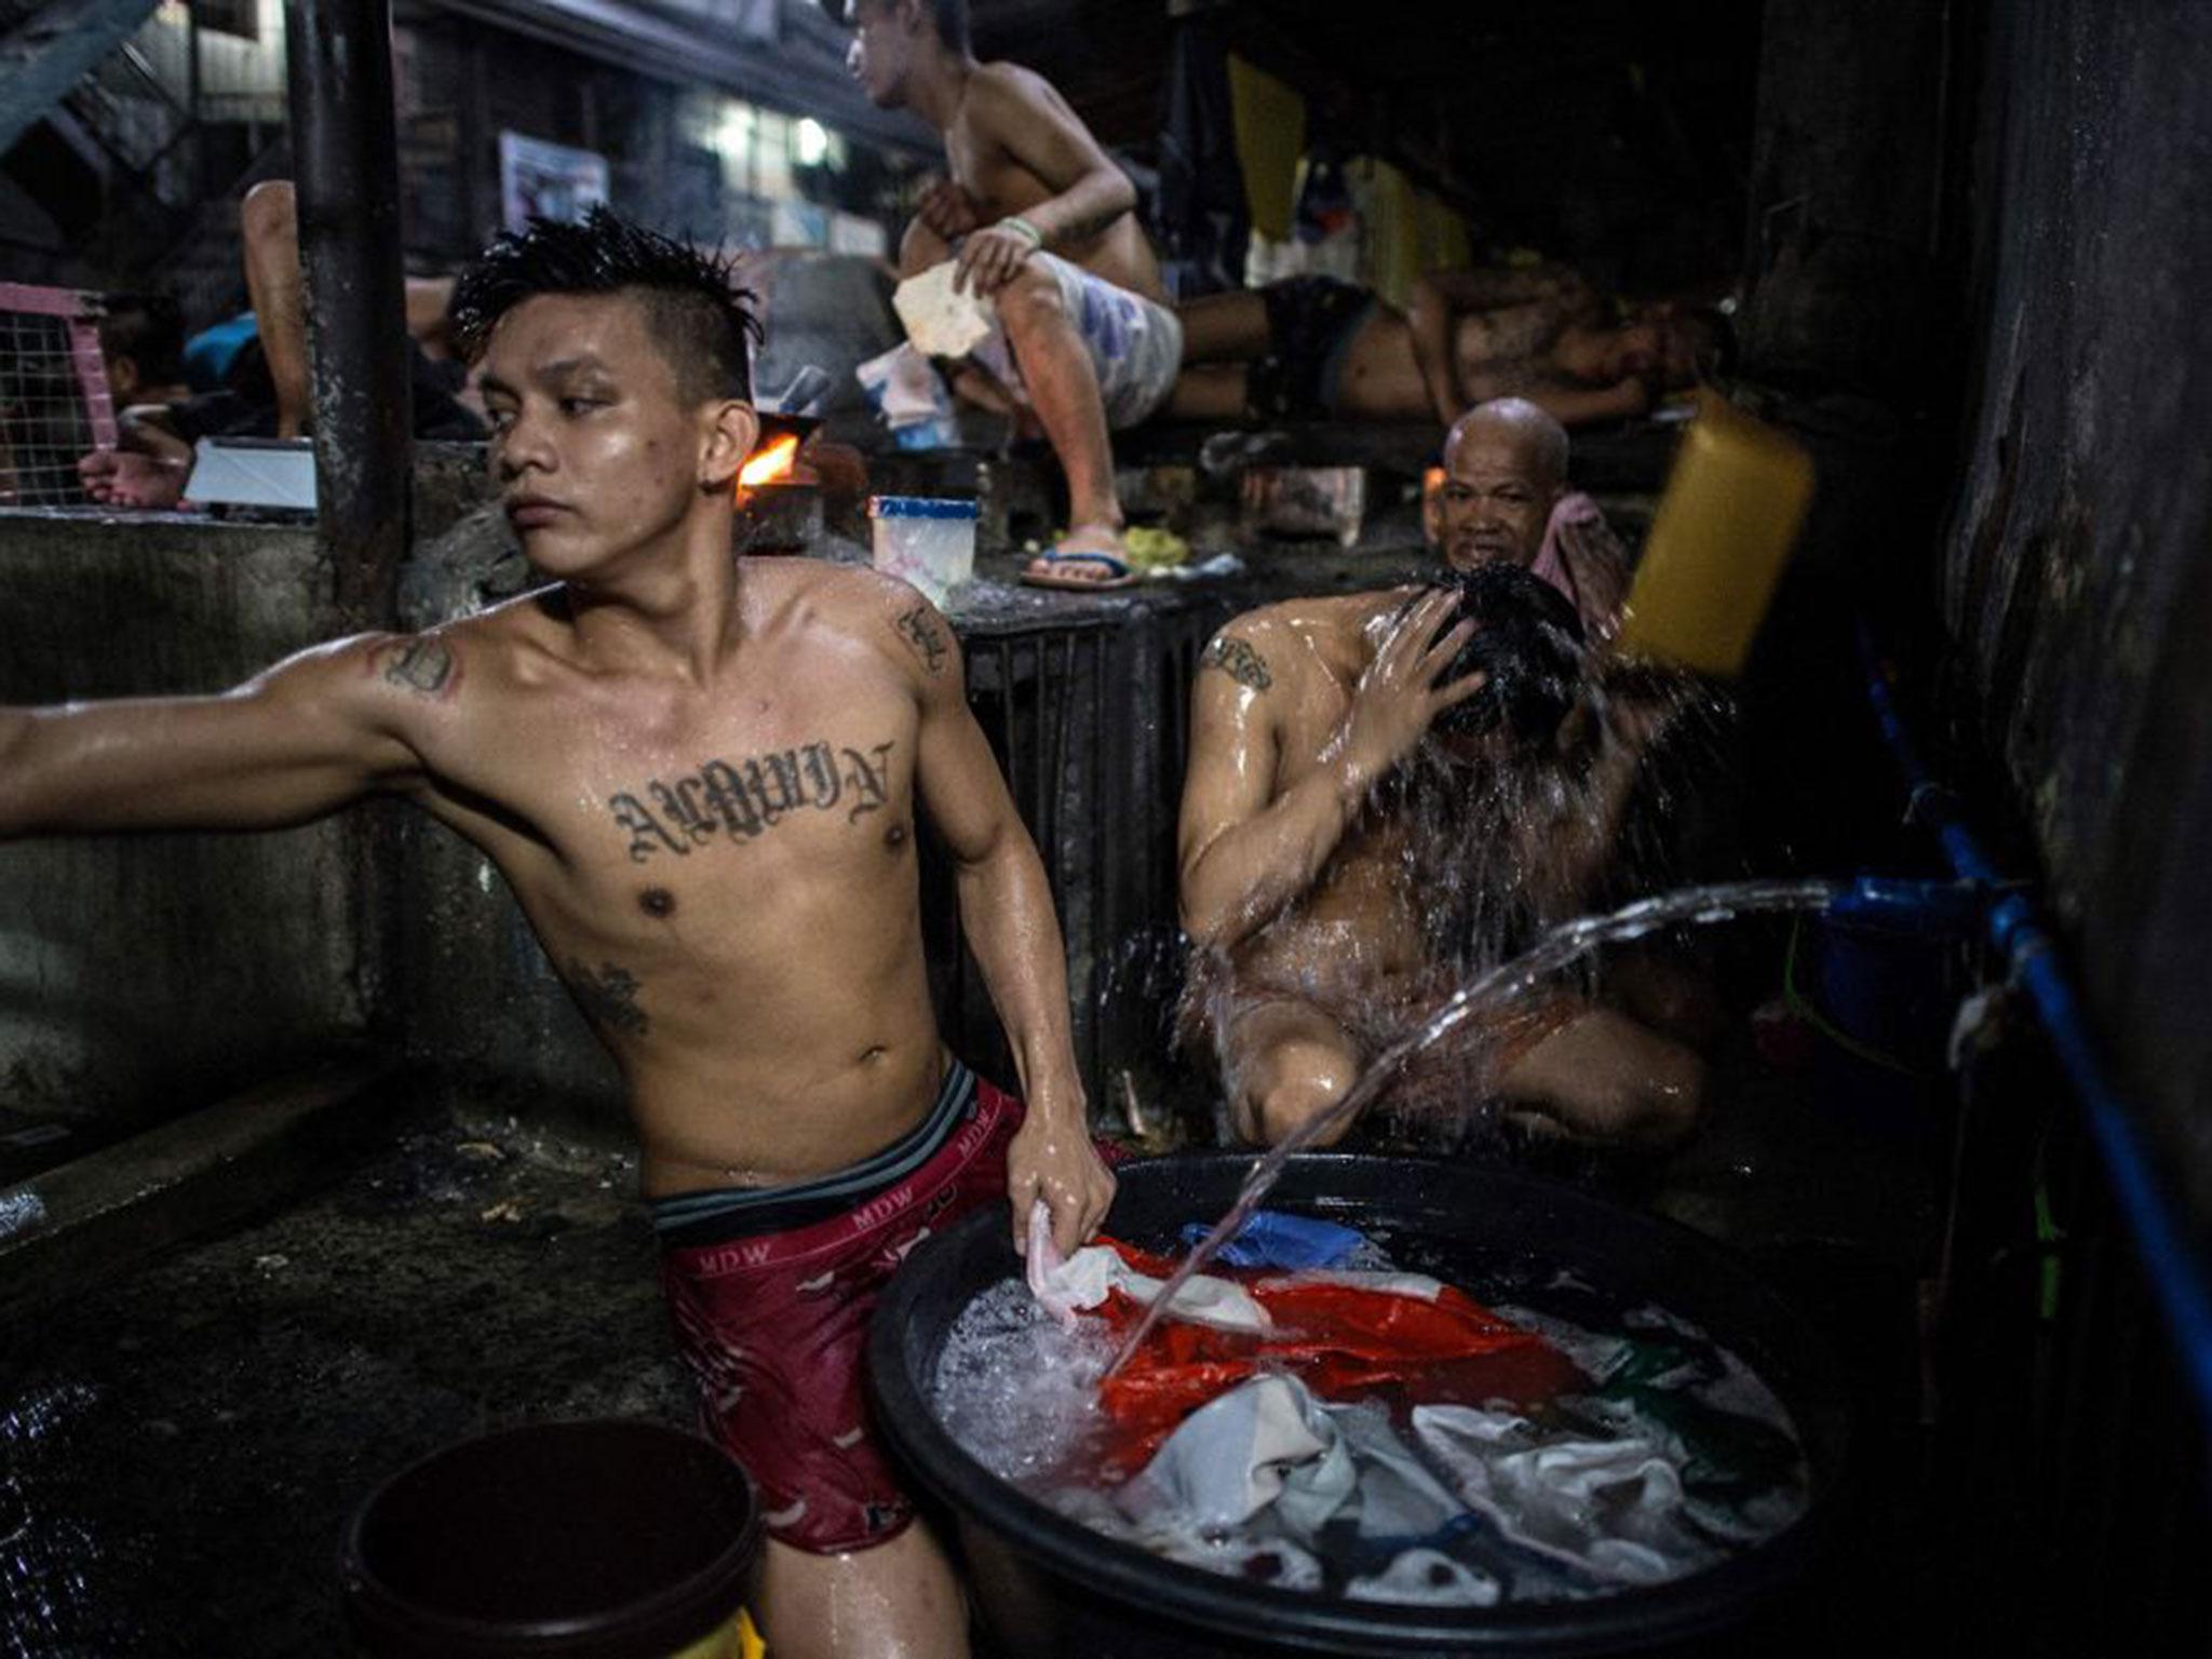
[(414, 471), (387, 0), (285, 0), (285, 60), (316, 522), (338, 606), (374, 626), (394, 615)]

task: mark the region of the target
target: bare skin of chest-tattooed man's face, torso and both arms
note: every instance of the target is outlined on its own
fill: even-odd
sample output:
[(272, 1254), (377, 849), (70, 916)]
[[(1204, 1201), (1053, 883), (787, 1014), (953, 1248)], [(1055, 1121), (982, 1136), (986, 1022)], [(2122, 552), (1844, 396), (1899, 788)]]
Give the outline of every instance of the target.
[(677, 398), (628, 296), (524, 301), (482, 383), (509, 513), (560, 586), (321, 646), (228, 697), (0, 712), (0, 836), (416, 801), (513, 885), (624, 1071), (646, 1190), (672, 1192), (843, 1168), (927, 1110), (927, 810), (1022, 1029), (1020, 1208), (1046, 1192), (1073, 1243), (1110, 1181), (1042, 865), (951, 628), (872, 571), (732, 564), (752, 411)]

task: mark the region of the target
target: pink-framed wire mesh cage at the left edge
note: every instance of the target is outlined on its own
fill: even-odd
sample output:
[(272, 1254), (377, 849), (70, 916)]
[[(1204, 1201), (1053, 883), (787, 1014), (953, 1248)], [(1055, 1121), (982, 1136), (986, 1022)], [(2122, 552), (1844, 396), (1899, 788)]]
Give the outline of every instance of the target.
[(97, 294), (0, 283), (0, 507), (84, 507), (77, 460), (115, 447)]

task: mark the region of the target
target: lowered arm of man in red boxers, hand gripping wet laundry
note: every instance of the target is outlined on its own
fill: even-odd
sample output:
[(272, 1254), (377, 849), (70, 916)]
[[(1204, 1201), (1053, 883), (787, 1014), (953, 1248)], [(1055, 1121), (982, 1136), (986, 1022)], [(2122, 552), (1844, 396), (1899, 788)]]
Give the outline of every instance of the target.
[(1006, 1148), (1013, 1248), (1029, 1241), (1029, 1208), (1044, 1199), (1062, 1252), (1088, 1239), (1113, 1203), (1113, 1175), (1091, 1148), (1084, 1084), (1068, 1029), (1068, 960), (1044, 860), (1022, 827), (1006, 779), (967, 706), (960, 641), (916, 593), (894, 626), (914, 659), (920, 697), (916, 787), (956, 860), (960, 929), (982, 969), (1022, 1082), (1029, 1117)]

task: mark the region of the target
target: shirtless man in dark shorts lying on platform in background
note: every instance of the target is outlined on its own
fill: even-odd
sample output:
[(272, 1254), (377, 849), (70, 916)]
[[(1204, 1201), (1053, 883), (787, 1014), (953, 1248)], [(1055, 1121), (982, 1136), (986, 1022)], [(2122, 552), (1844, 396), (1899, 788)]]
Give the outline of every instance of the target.
[(1329, 276), (1188, 301), (1168, 411), (1190, 420), (1438, 420), (1520, 396), (1562, 425), (1626, 420), (1719, 347), (1699, 312), (1615, 319), (1564, 268), (1440, 270), (1409, 310)]

